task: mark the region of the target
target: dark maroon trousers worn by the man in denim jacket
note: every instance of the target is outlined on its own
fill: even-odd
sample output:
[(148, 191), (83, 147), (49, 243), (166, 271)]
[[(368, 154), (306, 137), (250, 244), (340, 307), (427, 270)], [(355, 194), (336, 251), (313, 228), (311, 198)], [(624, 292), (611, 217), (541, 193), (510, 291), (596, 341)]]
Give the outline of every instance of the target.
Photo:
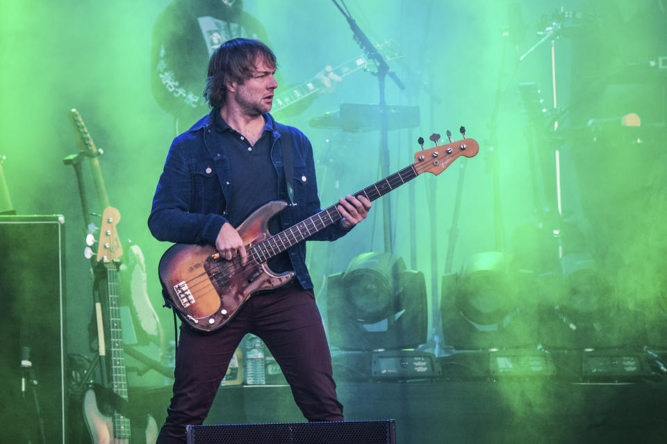
[(307, 420), (343, 420), (313, 290), (293, 283), (252, 296), (236, 318), (213, 334), (181, 325), (174, 395), (157, 444), (186, 443), (186, 425), (204, 422), (229, 361), (247, 333), (267, 345)]

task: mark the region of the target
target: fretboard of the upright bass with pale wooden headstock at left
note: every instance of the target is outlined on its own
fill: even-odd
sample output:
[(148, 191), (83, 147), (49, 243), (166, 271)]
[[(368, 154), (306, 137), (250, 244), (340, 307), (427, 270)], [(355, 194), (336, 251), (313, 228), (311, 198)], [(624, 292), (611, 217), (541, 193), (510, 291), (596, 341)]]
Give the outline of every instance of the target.
[[(109, 293), (109, 336), (111, 347), (111, 388), (116, 395), (127, 400), (127, 377), (123, 351), (123, 331), (120, 322), (120, 291), (115, 263), (105, 264)], [(113, 413), (113, 435), (117, 439), (131, 436), (130, 421), (120, 413)]]

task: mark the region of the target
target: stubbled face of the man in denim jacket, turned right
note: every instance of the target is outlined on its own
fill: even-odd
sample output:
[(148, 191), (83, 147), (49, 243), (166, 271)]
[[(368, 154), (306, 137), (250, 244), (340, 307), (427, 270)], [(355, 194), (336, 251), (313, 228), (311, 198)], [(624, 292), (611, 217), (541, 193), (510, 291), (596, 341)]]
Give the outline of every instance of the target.
[(255, 63), (257, 67), (252, 77), (245, 79), (242, 84), (233, 83), (235, 92), (233, 101), (236, 102), (242, 113), (251, 117), (263, 115), (271, 110), (273, 104), (273, 90), (278, 87), (275, 74), (276, 69), (264, 61)]

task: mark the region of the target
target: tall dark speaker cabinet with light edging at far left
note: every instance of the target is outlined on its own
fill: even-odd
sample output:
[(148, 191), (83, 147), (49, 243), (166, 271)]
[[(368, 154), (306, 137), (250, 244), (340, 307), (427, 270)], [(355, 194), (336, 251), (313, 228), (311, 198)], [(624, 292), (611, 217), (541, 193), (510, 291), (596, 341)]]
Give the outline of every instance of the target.
[(0, 404), (6, 443), (65, 443), (65, 224), (0, 215)]

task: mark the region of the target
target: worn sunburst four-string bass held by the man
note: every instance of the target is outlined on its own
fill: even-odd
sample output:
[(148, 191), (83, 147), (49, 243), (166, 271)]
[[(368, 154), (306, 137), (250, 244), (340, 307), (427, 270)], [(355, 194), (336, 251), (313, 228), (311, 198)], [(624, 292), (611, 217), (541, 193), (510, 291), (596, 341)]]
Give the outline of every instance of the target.
[[(411, 181), (419, 174), (438, 175), (460, 156), (479, 151), (475, 140), (466, 138), (415, 153), (412, 165), (387, 176), (354, 195), (373, 201)], [(320, 211), (292, 227), (271, 235), (268, 220), (287, 206), (274, 201), (258, 208), (236, 229), (245, 244), (247, 262), (240, 256), (231, 261), (220, 257), (213, 245), (172, 245), (160, 259), (158, 274), (165, 299), (183, 322), (201, 331), (214, 331), (227, 324), (254, 294), (285, 286), (294, 272), (275, 273), (267, 260), (314, 233), (340, 220), (336, 205)]]

